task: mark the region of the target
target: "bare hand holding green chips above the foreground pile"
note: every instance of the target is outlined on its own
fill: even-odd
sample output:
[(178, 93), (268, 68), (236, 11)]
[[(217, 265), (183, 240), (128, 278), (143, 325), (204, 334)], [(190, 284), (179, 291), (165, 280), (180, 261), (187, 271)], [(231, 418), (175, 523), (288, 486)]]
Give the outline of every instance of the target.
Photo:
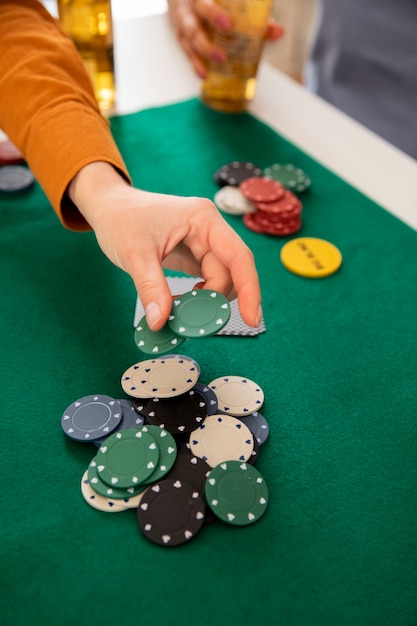
[(68, 193), (106, 256), (131, 275), (152, 330), (162, 328), (172, 307), (163, 267), (201, 276), (207, 289), (235, 291), (243, 320), (259, 325), (252, 252), (210, 200), (135, 189), (101, 162), (82, 168)]

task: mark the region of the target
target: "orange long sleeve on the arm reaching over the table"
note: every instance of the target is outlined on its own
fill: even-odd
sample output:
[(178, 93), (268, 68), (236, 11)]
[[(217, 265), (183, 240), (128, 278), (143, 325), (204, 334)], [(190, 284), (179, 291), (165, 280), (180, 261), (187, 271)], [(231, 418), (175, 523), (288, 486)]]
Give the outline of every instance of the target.
[(37, 0), (0, 0), (0, 128), (67, 228), (90, 228), (65, 193), (82, 167), (105, 161), (130, 182), (81, 57)]

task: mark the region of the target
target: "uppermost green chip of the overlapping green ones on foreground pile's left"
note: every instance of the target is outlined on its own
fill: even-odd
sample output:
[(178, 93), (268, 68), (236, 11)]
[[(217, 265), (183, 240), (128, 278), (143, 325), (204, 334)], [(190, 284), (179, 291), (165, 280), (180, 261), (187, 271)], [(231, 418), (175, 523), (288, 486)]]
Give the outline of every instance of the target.
[(127, 489), (141, 485), (157, 468), (159, 446), (149, 432), (130, 428), (113, 435), (100, 446), (97, 471), (110, 487)]

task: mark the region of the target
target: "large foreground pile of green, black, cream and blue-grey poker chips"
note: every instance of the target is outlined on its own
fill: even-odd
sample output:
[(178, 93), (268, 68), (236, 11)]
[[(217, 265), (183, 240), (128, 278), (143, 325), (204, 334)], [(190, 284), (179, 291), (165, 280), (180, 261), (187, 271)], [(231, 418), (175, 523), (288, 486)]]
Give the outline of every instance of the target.
[(241, 376), (204, 384), (199, 364), (170, 354), (140, 361), (121, 377), (127, 398), (72, 402), (61, 426), (95, 454), (81, 479), (100, 511), (136, 511), (142, 534), (161, 546), (188, 543), (205, 524), (258, 521), (268, 488), (254, 467), (269, 426), (264, 393)]

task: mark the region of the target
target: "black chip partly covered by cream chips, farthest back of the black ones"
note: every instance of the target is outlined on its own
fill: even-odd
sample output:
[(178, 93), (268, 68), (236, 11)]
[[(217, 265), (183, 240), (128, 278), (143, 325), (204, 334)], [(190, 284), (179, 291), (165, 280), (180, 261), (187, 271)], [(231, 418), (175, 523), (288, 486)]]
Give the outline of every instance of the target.
[(152, 398), (145, 415), (150, 424), (163, 426), (172, 434), (186, 434), (203, 423), (207, 416), (206, 401), (193, 388), (174, 398)]

